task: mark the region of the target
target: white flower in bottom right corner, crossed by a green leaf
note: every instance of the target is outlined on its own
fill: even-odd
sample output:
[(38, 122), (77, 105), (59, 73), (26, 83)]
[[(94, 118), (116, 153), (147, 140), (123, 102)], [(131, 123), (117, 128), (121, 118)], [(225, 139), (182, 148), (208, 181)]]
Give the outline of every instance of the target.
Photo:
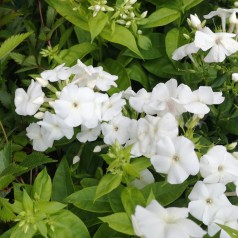
[(230, 235), (218, 225), (225, 225), (238, 230), (238, 207), (234, 205), (223, 206), (215, 214), (213, 223), (208, 226), (208, 234), (214, 236), (221, 230), (220, 238), (230, 238)]

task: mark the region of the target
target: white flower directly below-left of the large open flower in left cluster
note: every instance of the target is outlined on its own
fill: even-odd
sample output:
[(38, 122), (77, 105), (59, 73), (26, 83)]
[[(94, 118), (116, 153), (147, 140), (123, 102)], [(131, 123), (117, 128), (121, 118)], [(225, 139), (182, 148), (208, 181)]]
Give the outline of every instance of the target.
[(71, 139), (74, 135), (73, 127), (66, 125), (62, 118), (48, 111), (45, 112), (43, 120), (37, 124), (45, 129), (49, 140), (60, 140), (64, 136)]

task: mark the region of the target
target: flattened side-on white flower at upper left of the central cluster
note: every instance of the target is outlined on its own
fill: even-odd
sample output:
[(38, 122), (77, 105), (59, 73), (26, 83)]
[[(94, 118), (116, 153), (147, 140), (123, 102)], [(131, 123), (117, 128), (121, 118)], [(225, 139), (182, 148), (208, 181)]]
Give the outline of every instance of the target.
[(71, 75), (71, 69), (61, 64), (54, 69), (45, 70), (41, 74), (41, 78), (50, 82), (58, 82), (59, 80), (66, 80)]

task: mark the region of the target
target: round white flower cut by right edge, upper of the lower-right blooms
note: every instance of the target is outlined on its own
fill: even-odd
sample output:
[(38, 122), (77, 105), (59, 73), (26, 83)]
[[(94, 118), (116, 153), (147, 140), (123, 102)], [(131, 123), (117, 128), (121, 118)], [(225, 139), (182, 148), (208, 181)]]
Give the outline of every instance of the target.
[(212, 147), (200, 159), (205, 183), (230, 183), (238, 180), (238, 161), (221, 145)]

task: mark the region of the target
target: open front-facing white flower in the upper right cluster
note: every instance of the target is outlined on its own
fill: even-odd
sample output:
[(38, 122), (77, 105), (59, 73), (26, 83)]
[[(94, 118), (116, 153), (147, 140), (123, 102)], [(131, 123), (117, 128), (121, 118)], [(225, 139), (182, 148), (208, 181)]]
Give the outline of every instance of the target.
[(201, 48), (203, 51), (210, 49), (204, 61), (222, 62), (226, 56), (238, 51), (238, 42), (232, 39), (236, 34), (212, 32), (208, 27), (205, 27), (203, 31), (197, 31), (195, 34), (195, 45)]

